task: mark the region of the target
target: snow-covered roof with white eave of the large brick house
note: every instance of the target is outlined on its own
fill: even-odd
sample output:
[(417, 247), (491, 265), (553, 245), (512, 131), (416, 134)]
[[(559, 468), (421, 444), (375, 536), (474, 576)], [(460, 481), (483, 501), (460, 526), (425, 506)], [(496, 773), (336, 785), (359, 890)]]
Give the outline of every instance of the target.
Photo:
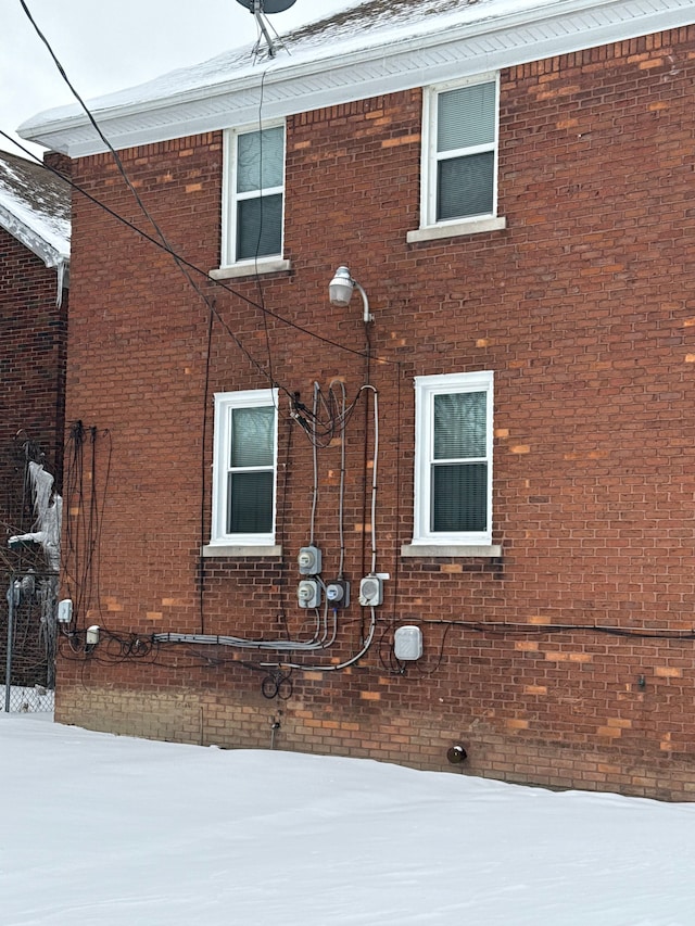
[[(343, 0), (281, 37), (275, 56), (245, 45), (91, 100), (116, 148), (281, 118), (413, 86), (460, 79), (693, 22), (692, 0)], [(263, 74), (262, 92), (258, 89)], [(76, 105), (20, 134), (71, 156), (104, 151)]]

